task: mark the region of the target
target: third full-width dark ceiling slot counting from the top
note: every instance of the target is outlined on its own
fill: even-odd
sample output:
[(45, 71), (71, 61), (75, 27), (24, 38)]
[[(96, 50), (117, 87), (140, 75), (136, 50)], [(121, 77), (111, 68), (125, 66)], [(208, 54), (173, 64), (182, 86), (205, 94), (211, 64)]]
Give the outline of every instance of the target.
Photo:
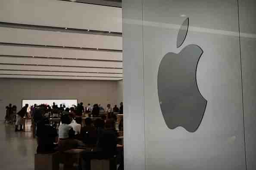
[(0, 57), (8, 58), (41, 58), (41, 59), (60, 59), (60, 60), (79, 60), (79, 61), (104, 61), (104, 62), (117, 62), (122, 63), (120, 60), (111, 60), (111, 59), (86, 59), (86, 58), (61, 58), (61, 57), (40, 57), (40, 56), (26, 56), (26, 55), (0, 55)]

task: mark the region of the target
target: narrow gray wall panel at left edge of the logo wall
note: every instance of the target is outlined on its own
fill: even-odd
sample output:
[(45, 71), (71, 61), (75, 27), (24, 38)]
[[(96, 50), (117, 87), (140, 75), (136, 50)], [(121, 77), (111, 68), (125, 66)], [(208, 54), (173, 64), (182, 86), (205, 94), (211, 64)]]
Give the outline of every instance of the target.
[(142, 2), (123, 0), (125, 170), (145, 169)]

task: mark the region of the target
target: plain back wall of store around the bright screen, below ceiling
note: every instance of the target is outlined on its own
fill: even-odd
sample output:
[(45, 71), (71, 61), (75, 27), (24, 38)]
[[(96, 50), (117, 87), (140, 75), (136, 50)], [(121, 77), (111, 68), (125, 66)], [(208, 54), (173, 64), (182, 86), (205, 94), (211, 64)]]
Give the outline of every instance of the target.
[(21, 109), (22, 99), (78, 99), (78, 102), (117, 103), (117, 81), (0, 79), (0, 120), (4, 119), (9, 103)]

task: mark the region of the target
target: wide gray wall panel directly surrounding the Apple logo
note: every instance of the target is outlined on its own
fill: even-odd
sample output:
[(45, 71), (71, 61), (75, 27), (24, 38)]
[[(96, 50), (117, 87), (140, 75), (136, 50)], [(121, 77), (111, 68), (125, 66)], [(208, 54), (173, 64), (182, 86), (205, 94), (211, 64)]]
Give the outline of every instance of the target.
[[(237, 1), (144, 0), (143, 5), (146, 169), (244, 170)], [(189, 17), (190, 25), (184, 44), (177, 49), (178, 29), (185, 20), (181, 15)], [(197, 83), (208, 101), (194, 133), (166, 126), (157, 92), (161, 59), (189, 44), (203, 49)], [(183, 69), (191, 64), (187, 61)]]

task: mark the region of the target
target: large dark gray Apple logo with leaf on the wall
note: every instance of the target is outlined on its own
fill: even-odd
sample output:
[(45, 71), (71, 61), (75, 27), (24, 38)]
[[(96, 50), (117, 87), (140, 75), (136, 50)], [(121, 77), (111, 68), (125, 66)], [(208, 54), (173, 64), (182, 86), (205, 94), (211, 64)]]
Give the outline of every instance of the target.
[[(177, 48), (187, 36), (187, 18), (178, 32)], [(197, 64), (203, 50), (190, 44), (178, 54), (167, 53), (159, 65), (157, 85), (160, 108), (165, 124), (170, 129), (184, 127), (189, 132), (197, 131), (207, 100), (197, 86)]]

